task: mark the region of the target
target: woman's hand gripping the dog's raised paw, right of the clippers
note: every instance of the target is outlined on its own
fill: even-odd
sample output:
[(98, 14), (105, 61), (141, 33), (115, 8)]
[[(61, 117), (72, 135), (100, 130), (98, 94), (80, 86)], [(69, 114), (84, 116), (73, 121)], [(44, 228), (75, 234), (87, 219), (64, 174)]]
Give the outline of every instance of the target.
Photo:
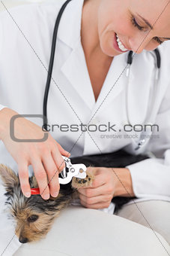
[(113, 197), (134, 196), (129, 169), (88, 167), (88, 172), (94, 174), (94, 181), (92, 187), (81, 187), (78, 190), (82, 206), (103, 209), (109, 207)]

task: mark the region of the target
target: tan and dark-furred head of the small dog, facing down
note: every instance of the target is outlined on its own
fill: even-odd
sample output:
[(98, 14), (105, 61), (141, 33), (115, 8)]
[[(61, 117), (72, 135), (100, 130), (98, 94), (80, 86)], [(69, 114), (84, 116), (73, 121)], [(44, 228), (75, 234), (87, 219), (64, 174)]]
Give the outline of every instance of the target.
[[(19, 242), (37, 241), (46, 236), (54, 218), (69, 202), (70, 196), (60, 191), (55, 200), (43, 200), (40, 195), (27, 198), (22, 194), (19, 177), (12, 169), (0, 165), (0, 177), (6, 190), (6, 204), (16, 220), (16, 236), (19, 237)], [(34, 176), (29, 178), (29, 182), (31, 187), (38, 187)]]

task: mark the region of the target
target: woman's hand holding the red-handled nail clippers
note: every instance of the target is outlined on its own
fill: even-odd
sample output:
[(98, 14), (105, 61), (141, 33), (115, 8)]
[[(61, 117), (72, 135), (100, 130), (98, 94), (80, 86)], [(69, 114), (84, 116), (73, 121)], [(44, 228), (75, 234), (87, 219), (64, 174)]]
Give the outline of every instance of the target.
[[(4, 142), (7, 151), (18, 164), (19, 181), (25, 197), (30, 197), (31, 189), (28, 182), (28, 166), (33, 166), (34, 175), (40, 188), (43, 199), (58, 196), (58, 172), (64, 169), (64, 160), (61, 154), (69, 157), (70, 154), (48, 134), (45, 142), (14, 142), (10, 138), (10, 118), (18, 114), (10, 108), (0, 111), (0, 139)], [(42, 139), (42, 127), (37, 126), (23, 117), (14, 123), (14, 134), (17, 139)], [(48, 181), (49, 180), (49, 185)]]

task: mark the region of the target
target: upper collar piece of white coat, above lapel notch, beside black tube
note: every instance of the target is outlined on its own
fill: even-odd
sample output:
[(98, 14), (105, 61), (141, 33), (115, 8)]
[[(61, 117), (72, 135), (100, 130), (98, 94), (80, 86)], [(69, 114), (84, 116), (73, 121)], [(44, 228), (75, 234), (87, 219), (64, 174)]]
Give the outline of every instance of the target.
[[(62, 5), (66, 0), (62, 1)], [(80, 41), (82, 23), (82, 6), (84, 0), (72, 0), (68, 3), (62, 14), (58, 28), (58, 38), (72, 49)]]

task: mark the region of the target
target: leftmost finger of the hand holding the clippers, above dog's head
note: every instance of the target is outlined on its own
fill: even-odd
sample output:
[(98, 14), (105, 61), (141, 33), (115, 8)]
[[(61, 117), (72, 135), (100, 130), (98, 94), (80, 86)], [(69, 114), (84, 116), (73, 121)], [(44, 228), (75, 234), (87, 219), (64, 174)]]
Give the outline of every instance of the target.
[(22, 193), (25, 195), (25, 197), (30, 197), (31, 188), (29, 184), (28, 164), (26, 163), (26, 161), (25, 163), (19, 163), (18, 172)]

